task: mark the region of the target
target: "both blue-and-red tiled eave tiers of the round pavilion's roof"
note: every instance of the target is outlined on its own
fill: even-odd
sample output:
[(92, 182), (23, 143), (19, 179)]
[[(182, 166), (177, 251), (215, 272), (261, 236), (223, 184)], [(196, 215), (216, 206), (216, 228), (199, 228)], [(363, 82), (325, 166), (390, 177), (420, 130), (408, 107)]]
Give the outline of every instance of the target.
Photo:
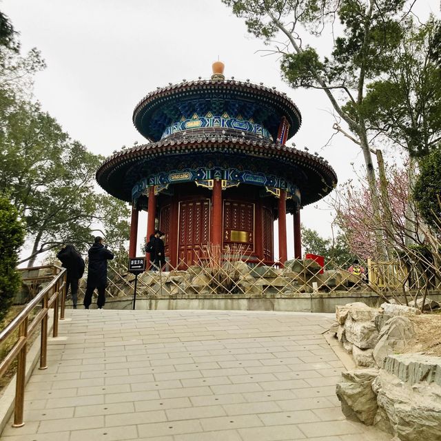
[(314, 203), (334, 188), (336, 173), (323, 158), (280, 145), (281, 121), (289, 139), (302, 119), (285, 93), (262, 83), (223, 75), (170, 83), (147, 94), (133, 113), (136, 129), (151, 142), (107, 158), (96, 180), (116, 198), (133, 202), (139, 183), (156, 185), (163, 172), (187, 170), (198, 181), (204, 178), (193, 174), (196, 169), (206, 176), (234, 169), (279, 180), (280, 187), (289, 183), (300, 191), (302, 206)]

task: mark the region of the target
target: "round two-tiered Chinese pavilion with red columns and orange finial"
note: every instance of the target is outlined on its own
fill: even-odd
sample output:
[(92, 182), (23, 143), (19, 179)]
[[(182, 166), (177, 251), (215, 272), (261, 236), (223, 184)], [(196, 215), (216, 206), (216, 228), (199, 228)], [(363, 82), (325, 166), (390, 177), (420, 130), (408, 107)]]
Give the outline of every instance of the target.
[(301, 258), (300, 208), (326, 196), (337, 177), (317, 154), (285, 145), (299, 129), (298, 108), (285, 93), (225, 79), (157, 88), (136, 105), (133, 122), (149, 141), (110, 156), (96, 172), (108, 193), (132, 204), (130, 256), (139, 211), (147, 237), (166, 233), (172, 267), (198, 262), (203, 249), (241, 245), (247, 260), (287, 260), (286, 214), (294, 214), (294, 254)]

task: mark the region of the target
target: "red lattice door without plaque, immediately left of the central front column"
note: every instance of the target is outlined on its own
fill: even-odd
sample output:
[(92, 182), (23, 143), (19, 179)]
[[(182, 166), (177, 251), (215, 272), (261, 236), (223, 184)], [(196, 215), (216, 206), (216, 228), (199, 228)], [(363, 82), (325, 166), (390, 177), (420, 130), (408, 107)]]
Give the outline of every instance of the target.
[(198, 263), (209, 243), (209, 199), (179, 203), (178, 267)]

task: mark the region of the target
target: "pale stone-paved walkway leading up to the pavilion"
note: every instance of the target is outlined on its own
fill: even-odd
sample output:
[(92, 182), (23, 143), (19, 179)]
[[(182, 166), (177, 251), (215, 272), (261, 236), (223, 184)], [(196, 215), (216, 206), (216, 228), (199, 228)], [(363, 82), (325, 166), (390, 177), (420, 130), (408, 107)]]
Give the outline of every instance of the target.
[(389, 441), (345, 420), (329, 314), (68, 310), (4, 441)]

